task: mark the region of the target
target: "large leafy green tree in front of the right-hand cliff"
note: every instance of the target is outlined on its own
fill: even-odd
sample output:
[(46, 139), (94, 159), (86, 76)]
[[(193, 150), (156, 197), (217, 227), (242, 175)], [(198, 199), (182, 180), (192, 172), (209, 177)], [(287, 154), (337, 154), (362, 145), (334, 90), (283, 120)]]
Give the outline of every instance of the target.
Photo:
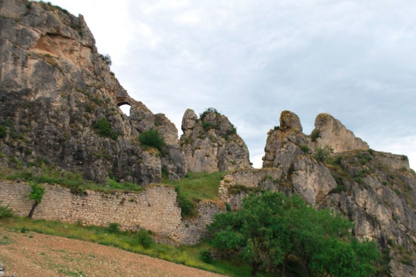
[(266, 192), (243, 200), (241, 210), (216, 215), (209, 226), (211, 245), (224, 256), (284, 276), (295, 262), (304, 276), (372, 276), (380, 253), (374, 242), (360, 243), (352, 222), (328, 209), (317, 211), (301, 197)]

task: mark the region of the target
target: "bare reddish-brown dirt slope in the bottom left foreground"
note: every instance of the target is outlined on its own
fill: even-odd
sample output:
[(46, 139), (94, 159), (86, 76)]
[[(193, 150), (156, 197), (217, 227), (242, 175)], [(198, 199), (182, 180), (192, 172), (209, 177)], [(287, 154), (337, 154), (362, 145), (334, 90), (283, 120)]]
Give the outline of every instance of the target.
[(0, 229), (6, 276), (223, 276), (92, 242)]

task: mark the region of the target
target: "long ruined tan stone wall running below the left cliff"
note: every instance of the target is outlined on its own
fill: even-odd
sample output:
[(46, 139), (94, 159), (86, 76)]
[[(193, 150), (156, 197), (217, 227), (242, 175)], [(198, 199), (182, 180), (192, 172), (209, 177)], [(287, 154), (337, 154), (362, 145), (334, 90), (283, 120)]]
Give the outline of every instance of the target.
[[(31, 211), (30, 193), (31, 187), (27, 184), (0, 181), (1, 205), (9, 205), (15, 215), (26, 216)], [(117, 222), (122, 230), (144, 228), (183, 244), (196, 244), (205, 237), (206, 225), (224, 208), (203, 202), (198, 206), (196, 219), (182, 220), (176, 196), (175, 189), (170, 186), (150, 185), (137, 193), (87, 190), (87, 195), (81, 196), (67, 188), (45, 185), (44, 197), (33, 218), (95, 226)]]

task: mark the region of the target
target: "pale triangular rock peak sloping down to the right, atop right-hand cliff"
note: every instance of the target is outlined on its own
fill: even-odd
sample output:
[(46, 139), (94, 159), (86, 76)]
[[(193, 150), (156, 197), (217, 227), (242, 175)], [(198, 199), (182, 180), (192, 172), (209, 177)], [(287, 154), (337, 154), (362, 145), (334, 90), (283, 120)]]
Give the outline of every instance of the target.
[(370, 149), (365, 141), (354, 136), (354, 133), (340, 123), (340, 120), (329, 114), (318, 114), (312, 134), (315, 132), (319, 134), (315, 146), (320, 148), (331, 145), (333, 152)]

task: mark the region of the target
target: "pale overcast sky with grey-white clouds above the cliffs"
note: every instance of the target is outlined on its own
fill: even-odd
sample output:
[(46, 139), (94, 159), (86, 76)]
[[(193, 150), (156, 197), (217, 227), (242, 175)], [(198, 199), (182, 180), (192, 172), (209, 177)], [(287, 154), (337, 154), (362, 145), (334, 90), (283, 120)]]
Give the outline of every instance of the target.
[(82, 14), (132, 98), (182, 134), (188, 108), (215, 107), (261, 167), (290, 110), (310, 134), (327, 112), (370, 148), (416, 169), (414, 0), (55, 0)]

